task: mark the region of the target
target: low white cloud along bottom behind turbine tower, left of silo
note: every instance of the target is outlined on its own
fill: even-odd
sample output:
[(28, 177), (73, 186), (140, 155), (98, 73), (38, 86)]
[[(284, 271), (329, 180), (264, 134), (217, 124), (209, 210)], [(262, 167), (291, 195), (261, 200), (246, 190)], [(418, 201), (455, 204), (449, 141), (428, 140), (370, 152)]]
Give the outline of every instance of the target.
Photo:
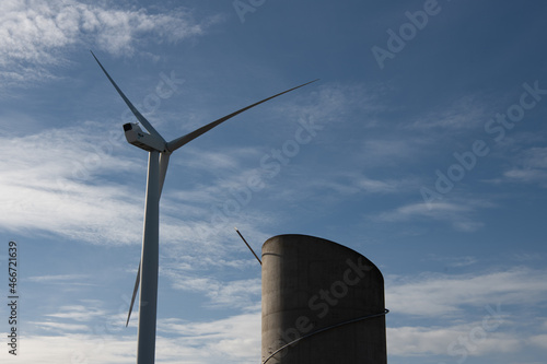
[[(38, 322), (43, 329), (74, 331), (75, 325)], [(184, 322), (158, 321), (156, 362), (171, 363), (256, 363), (260, 357), (260, 314)], [(20, 364), (135, 363), (136, 336), (119, 332), (26, 334), (21, 340)], [(3, 353), (2, 353), (3, 354)]]

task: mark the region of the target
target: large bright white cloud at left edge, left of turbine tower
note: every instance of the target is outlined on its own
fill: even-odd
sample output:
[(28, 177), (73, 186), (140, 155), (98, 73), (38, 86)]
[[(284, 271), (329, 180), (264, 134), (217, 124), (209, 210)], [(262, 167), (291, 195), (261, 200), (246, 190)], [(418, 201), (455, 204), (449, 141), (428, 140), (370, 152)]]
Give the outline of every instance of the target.
[(140, 226), (133, 231), (119, 226), (140, 222), (142, 199), (128, 187), (102, 179), (106, 172), (138, 171), (135, 160), (115, 156), (116, 142), (91, 132), (95, 128), (88, 124), (0, 137), (0, 202), (9, 211), (0, 220), (2, 230), (102, 244), (139, 242)]

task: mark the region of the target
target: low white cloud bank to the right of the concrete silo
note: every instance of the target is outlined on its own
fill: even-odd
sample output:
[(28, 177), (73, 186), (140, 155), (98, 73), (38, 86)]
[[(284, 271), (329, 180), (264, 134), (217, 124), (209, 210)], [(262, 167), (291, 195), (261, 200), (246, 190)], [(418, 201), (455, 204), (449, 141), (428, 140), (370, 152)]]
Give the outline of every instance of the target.
[[(395, 356), (439, 355), (452, 360), (546, 349), (542, 321), (515, 316), (547, 302), (545, 271), (513, 268), (482, 274), (388, 277), (386, 306), (420, 326), (387, 327), (388, 353)], [(443, 322), (442, 326), (440, 326)], [(430, 324), (430, 325), (428, 325)], [(523, 329), (524, 331), (521, 331)]]

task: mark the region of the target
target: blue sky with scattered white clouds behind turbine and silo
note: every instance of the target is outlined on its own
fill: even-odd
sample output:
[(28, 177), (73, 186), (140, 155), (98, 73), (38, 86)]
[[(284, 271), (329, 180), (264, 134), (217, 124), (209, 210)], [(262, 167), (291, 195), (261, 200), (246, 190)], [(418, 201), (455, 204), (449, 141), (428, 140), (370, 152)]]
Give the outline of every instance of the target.
[(2, 343), (2, 362), (135, 362), (147, 153), (93, 49), (165, 139), (321, 79), (172, 156), (159, 363), (259, 362), (260, 269), (233, 226), (255, 250), (299, 233), (374, 261), (392, 364), (544, 363), (546, 14), (538, 0), (2, 1), (0, 269), (16, 240), (21, 294), (19, 355)]

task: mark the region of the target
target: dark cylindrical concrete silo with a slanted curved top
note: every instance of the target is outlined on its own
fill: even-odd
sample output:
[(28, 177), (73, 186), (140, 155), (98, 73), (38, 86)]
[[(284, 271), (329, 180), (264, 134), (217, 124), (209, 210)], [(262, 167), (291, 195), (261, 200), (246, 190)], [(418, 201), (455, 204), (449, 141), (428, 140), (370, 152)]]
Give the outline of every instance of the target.
[(263, 245), (263, 363), (385, 364), (385, 313), (382, 273), (359, 253), (306, 235)]

